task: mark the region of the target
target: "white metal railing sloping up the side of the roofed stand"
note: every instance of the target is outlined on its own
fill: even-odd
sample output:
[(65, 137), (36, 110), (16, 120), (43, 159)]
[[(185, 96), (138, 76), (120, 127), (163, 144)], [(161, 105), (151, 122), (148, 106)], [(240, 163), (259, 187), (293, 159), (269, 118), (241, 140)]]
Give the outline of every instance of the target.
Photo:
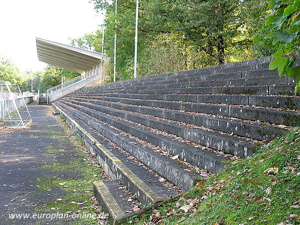
[(62, 95), (68, 94), (78, 88), (94, 82), (95, 80), (100, 78), (98, 77), (99, 74), (100, 67), (47, 89), (47, 96), (49, 101), (53, 101), (61, 97)]

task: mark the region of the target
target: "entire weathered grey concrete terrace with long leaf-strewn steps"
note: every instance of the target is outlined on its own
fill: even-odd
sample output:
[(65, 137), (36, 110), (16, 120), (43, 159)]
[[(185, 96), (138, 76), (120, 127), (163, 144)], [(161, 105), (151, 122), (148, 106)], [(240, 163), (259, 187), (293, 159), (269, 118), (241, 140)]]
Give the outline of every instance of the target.
[(94, 193), (112, 224), (300, 125), (295, 81), (270, 60), (83, 87), (53, 102), (111, 177)]

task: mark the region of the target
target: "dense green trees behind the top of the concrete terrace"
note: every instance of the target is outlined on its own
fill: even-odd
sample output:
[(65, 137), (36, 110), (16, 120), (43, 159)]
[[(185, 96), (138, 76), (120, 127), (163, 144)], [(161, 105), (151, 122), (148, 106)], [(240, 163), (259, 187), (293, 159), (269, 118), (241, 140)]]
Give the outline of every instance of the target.
[[(116, 79), (132, 78), (135, 0), (117, 1), (117, 24), (115, 1), (91, 2), (95, 9), (106, 10), (104, 50), (110, 72), (116, 32)], [(257, 31), (253, 24), (263, 19), (265, 7), (264, 0), (140, 0), (137, 76), (252, 58), (251, 37)], [(100, 35), (96, 38), (101, 40)], [(86, 34), (74, 43), (94, 46)]]

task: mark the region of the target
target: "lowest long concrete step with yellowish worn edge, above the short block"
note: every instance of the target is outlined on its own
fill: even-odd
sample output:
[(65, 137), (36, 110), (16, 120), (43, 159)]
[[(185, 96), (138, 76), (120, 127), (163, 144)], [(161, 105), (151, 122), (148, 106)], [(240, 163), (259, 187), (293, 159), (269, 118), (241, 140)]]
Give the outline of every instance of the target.
[(95, 158), (105, 172), (125, 184), (140, 202), (152, 205), (180, 193), (177, 190), (170, 191), (160, 182), (149, 184), (149, 179), (153, 181), (157, 179), (153, 172), (145, 169), (140, 164), (134, 163), (132, 160), (128, 160), (127, 155), (124, 155), (117, 148), (109, 146), (94, 130), (72, 114), (69, 114), (69, 112), (62, 110), (61, 106), (63, 105), (59, 102), (53, 104), (70, 126), (83, 138), (84, 143), (95, 154)]

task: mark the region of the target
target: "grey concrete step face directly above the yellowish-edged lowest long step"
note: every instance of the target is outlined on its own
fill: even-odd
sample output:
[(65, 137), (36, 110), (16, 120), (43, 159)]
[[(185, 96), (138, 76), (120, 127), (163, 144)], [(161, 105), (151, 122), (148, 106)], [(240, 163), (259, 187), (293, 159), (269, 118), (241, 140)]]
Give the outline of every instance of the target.
[[(133, 139), (122, 134), (122, 132), (115, 128), (111, 128), (105, 123), (96, 121), (86, 114), (67, 107), (60, 102), (56, 102), (56, 104), (100, 132), (103, 136), (116, 143), (179, 188), (189, 190), (198, 180), (202, 179), (199, 175), (190, 172), (186, 166), (179, 164), (179, 162), (172, 160), (166, 155), (155, 153), (153, 149), (141, 146), (141, 144), (136, 143)], [(184, 169), (187, 169), (188, 171)]]

